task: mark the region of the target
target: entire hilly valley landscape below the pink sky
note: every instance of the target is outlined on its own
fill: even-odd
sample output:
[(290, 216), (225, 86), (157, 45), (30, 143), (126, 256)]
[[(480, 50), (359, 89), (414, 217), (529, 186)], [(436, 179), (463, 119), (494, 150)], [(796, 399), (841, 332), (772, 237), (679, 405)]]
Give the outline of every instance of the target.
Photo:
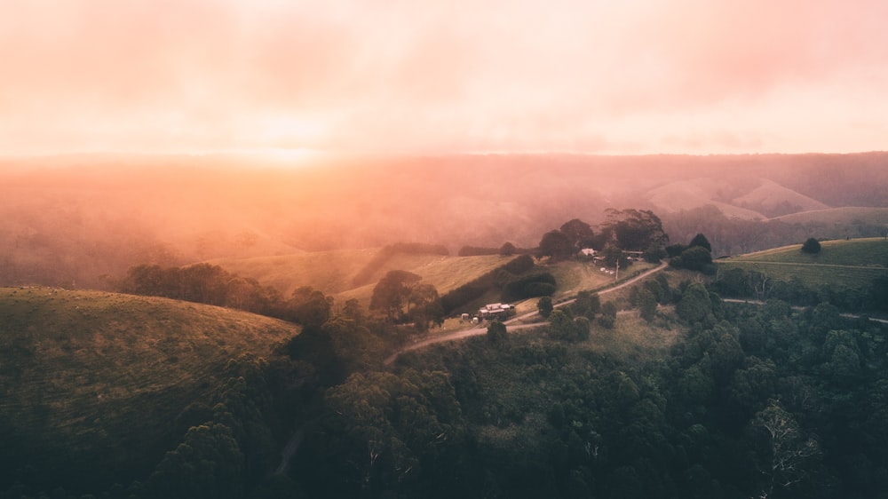
[(872, 496), (883, 156), (2, 170), (0, 497)]

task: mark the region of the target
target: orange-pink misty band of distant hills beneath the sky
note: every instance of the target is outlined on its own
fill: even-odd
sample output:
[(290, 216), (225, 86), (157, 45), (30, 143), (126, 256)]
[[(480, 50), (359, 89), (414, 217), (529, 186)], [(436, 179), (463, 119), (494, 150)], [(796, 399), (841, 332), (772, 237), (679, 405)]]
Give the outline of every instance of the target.
[[(378, 248), (534, 248), (608, 208), (654, 210), (718, 255), (881, 235), (888, 155), (75, 155), (0, 165), (0, 283), (107, 288), (132, 265)], [(832, 209), (869, 207), (846, 220)], [(793, 214), (813, 218), (789, 220)], [(816, 215), (821, 214), (821, 215)], [(846, 217), (847, 218), (847, 217)], [(781, 221), (789, 220), (789, 221)], [(802, 220), (799, 222), (798, 220)], [(804, 222), (804, 223), (803, 223)]]

